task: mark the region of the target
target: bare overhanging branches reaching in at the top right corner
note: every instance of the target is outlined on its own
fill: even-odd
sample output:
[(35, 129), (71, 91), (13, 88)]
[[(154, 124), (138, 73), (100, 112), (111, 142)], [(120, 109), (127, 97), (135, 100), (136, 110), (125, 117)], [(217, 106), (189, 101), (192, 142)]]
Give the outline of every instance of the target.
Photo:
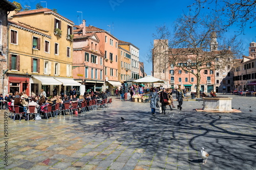
[(240, 31), (244, 31), (248, 23), (249, 28), (255, 27), (255, 0), (195, 0), (195, 3), (188, 7), (196, 13), (200, 13), (203, 9), (218, 13), (223, 20), (226, 20), (226, 27), (237, 25), (240, 27)]

